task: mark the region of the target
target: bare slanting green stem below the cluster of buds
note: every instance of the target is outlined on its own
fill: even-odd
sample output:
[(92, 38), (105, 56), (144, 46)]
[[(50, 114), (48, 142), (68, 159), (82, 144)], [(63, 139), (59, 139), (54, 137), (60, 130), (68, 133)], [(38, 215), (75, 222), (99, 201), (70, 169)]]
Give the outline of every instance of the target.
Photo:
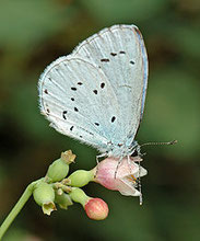
[(3, 234), (10, 227), (10, 225), (13, 222), (14, 218), (17, 216), (17, 214), (21, 211), (25, 203), (31, 197), (35, 185), (39, 182), (40, 180), (37, 180), (35, 182), (32, 182), (26, 190), (24, 191), (23, 195), (19, 199), (19, 202), (15, 204), (13, 209), (10, 211), (9, 216), (4, 219), (3, 223), (0, 227), (0, 240), (2, 239)]

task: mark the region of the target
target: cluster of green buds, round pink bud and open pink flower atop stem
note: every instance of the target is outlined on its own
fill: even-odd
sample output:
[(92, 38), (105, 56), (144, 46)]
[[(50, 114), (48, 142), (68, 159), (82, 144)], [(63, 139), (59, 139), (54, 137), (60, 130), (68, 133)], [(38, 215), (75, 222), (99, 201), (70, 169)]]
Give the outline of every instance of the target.
[(35, 202), (42, 206), (44, 214), (56, 210), (56, 204), (68, 209), (73, 203), (80, 203), (89, 218), (103, 220), (108, 215), (108, 206), (101, 198), (90, 197), (81, 188), (89, 182), (96, 182), (108, 190), (119, 191), (126, 196), (140, 196), (138, 179), (146, 174), (146, 170), (138, 164), (140, 157), (123, 158), (119, 163), (116, 158), (106, 158), (91, 171), (78, 170), (68, 176), (69, 164), (75, 156), (71, 150), (61, 154), (52, 162), (47, 174), (34, 187)]

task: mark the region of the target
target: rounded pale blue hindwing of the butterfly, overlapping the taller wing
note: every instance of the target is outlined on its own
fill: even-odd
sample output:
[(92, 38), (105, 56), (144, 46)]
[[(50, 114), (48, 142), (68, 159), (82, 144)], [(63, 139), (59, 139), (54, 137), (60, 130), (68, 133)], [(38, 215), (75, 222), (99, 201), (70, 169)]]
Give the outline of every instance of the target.
[(74, 56), (57, 59), (39, 80), (39, 95), (42, 113), (54, 128), (99, 150), (107, 147), (118, 103), (95, 64)]

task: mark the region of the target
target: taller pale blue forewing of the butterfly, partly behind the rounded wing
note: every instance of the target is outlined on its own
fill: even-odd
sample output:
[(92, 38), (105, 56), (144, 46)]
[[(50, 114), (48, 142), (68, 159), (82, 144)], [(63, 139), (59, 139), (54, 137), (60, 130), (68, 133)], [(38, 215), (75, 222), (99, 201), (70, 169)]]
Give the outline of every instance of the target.
[(81, 43), (72, 54), (99, 66), (117, 95), (119, 115), (114, 142), (133, 139), (148, 84), (148, 57), (139, 30), (134, 25), (114, 25)]

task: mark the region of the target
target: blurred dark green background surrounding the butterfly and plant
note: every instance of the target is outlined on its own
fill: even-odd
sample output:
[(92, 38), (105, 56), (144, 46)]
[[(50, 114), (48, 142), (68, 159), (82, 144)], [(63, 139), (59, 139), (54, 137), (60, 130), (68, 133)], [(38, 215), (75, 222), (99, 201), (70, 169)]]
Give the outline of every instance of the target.
[(199, 0), (0, 1), (0, 220), (61, 151), (78, 156), (71, 172), (96, 164), (94, 149), (58, 134), (39, 114), (37, 81), (52, 60), (117, 23), (138, 25), (149, 54), (137, 140), (178, 144), (143, 149), (143, 206), (90, 184), (86, 193), (109, 205), (106, 220), (90, 220), (79, 204), (46, 217), (31, 199), (5, 241), (200, 240)]

